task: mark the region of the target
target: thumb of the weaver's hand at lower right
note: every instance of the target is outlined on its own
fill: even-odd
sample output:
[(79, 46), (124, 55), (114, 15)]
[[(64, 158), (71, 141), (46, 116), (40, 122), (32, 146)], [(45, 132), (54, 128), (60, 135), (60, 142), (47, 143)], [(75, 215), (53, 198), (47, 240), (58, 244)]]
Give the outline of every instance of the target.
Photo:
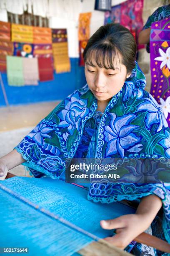
[(104, 229), (124, 228), (126, 226), (121, 217), (113, 220), (100, 220), (100, 225)]

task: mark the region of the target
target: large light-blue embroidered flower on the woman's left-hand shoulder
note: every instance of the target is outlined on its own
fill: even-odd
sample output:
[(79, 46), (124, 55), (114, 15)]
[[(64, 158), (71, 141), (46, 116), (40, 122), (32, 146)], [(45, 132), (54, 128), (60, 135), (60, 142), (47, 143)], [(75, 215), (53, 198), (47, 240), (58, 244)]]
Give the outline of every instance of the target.
[(61, 120), (58, 127), (67, 127), (71, 135), (74, 133), (75, 127), (79, 131), (81, 119), (89, 113), (89, 109), (85, 107), (86, 105), (87, 100), (80, 100), (77, 92), (71, 98), (67, 97), (65, 100), (65, 109), (58, 113)]

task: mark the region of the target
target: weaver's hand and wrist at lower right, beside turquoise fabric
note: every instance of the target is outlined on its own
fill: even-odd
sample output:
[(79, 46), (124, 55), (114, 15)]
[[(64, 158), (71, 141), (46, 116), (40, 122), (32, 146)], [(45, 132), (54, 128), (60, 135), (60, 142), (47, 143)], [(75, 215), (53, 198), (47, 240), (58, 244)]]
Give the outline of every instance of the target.
[(116, 235), (105, 240), (124, 249), (150, 226), (161, 206), (162, 201), (158, 196), (148, 195), (142, 198), (135, 214), (122, 215), (113, 220), (101, 220), (102, 228), (116, 229)]

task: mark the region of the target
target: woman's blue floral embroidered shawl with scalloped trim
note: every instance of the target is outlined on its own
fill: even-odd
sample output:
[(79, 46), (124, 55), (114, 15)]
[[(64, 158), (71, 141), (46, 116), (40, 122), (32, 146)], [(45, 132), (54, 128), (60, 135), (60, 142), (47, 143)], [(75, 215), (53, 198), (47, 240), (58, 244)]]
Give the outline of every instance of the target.
[[(163, 203), (163, 218), (156, 229), (163, 228), (158, 236), (170, 243), (170, 129), (158, 103), (144, 90), (145, 85), (145, 76), (136, 63), (131, 77), (110, 99), (96, 141), (97, 160), (121, 159), (122, 163), (133, 160), (135, 167), (126, 166), (125, 182), (91, 179), (87, 199), (112, 203), (157, 195)], [(81, 153), (77, 148), (85, 124), (96, 110), (97, 99), (87, 84), (67, 96), (15, 147), (26, 160), (23, 165), (28, 166), (34, 177), (47, 175), (59, 179), (67, 160), (73, 159), (76, 152)], [(147, 179), (155, 179), (154, 183), (145, 183), (143, 159), (148, 167)], [(165, 180), (159, 182), (158, 176), (163, 171)]]

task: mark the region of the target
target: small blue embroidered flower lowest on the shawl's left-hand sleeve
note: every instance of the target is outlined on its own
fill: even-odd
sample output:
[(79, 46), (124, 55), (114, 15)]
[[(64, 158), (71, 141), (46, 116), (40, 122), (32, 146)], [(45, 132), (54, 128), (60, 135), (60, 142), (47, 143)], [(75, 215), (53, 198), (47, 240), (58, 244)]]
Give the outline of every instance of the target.
[(34, 128), (34, 130), (32, 130), (31, 133), (28, 134), (27, 137), (32, 138), (35, 143), (43, 146), (43, 139), (51, 138), (51, 136), (47, 134), (50, 133), (50, 131), (53, 131), (51, 127), (48, 127), (45, 123), (40, 123)]

